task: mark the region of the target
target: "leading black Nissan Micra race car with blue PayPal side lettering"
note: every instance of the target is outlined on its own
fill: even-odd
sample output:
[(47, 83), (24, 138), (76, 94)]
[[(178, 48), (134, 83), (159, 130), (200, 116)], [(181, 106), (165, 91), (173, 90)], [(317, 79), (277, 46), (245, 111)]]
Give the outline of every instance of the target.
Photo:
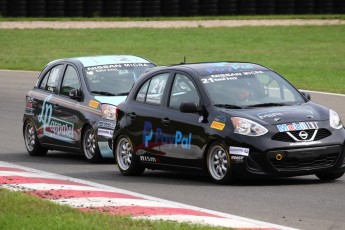
[(345, 129), (275, 71), (254, 63), (150, 70), (117, 108), (113, 153), (123, 175), (145, 168), (240, 176), (345, 171)]

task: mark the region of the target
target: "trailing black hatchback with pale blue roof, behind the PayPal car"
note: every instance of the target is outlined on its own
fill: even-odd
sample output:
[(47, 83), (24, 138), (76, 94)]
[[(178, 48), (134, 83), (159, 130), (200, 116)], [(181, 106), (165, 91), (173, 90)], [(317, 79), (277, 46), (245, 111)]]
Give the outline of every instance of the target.
[(82, 152), (90, 162), (113, 157), (116, 105), (154, 63), (107, 55), (48, 63), (26, 95), (24, 142), (32, 156), (48, 150)]

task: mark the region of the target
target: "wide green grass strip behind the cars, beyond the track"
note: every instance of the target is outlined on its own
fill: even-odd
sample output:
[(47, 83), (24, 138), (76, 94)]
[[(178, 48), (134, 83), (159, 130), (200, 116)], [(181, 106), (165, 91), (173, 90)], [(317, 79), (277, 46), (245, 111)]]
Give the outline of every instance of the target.
[(296, 87), (345, 93), (345, 26), (0, 30), (0, 69), (41, 70), (62, 57), (134, 54), (159, 65), (249, 61)]

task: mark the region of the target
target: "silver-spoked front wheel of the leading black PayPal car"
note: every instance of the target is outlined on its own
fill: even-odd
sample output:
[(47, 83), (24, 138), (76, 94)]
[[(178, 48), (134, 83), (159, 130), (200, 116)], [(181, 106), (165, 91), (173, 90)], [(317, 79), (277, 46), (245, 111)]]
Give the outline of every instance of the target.
[(229, 184), (233, 178), (230, 155), (221, 143), (213, 143), (207, 151), (207, 171), (217, 184)]

